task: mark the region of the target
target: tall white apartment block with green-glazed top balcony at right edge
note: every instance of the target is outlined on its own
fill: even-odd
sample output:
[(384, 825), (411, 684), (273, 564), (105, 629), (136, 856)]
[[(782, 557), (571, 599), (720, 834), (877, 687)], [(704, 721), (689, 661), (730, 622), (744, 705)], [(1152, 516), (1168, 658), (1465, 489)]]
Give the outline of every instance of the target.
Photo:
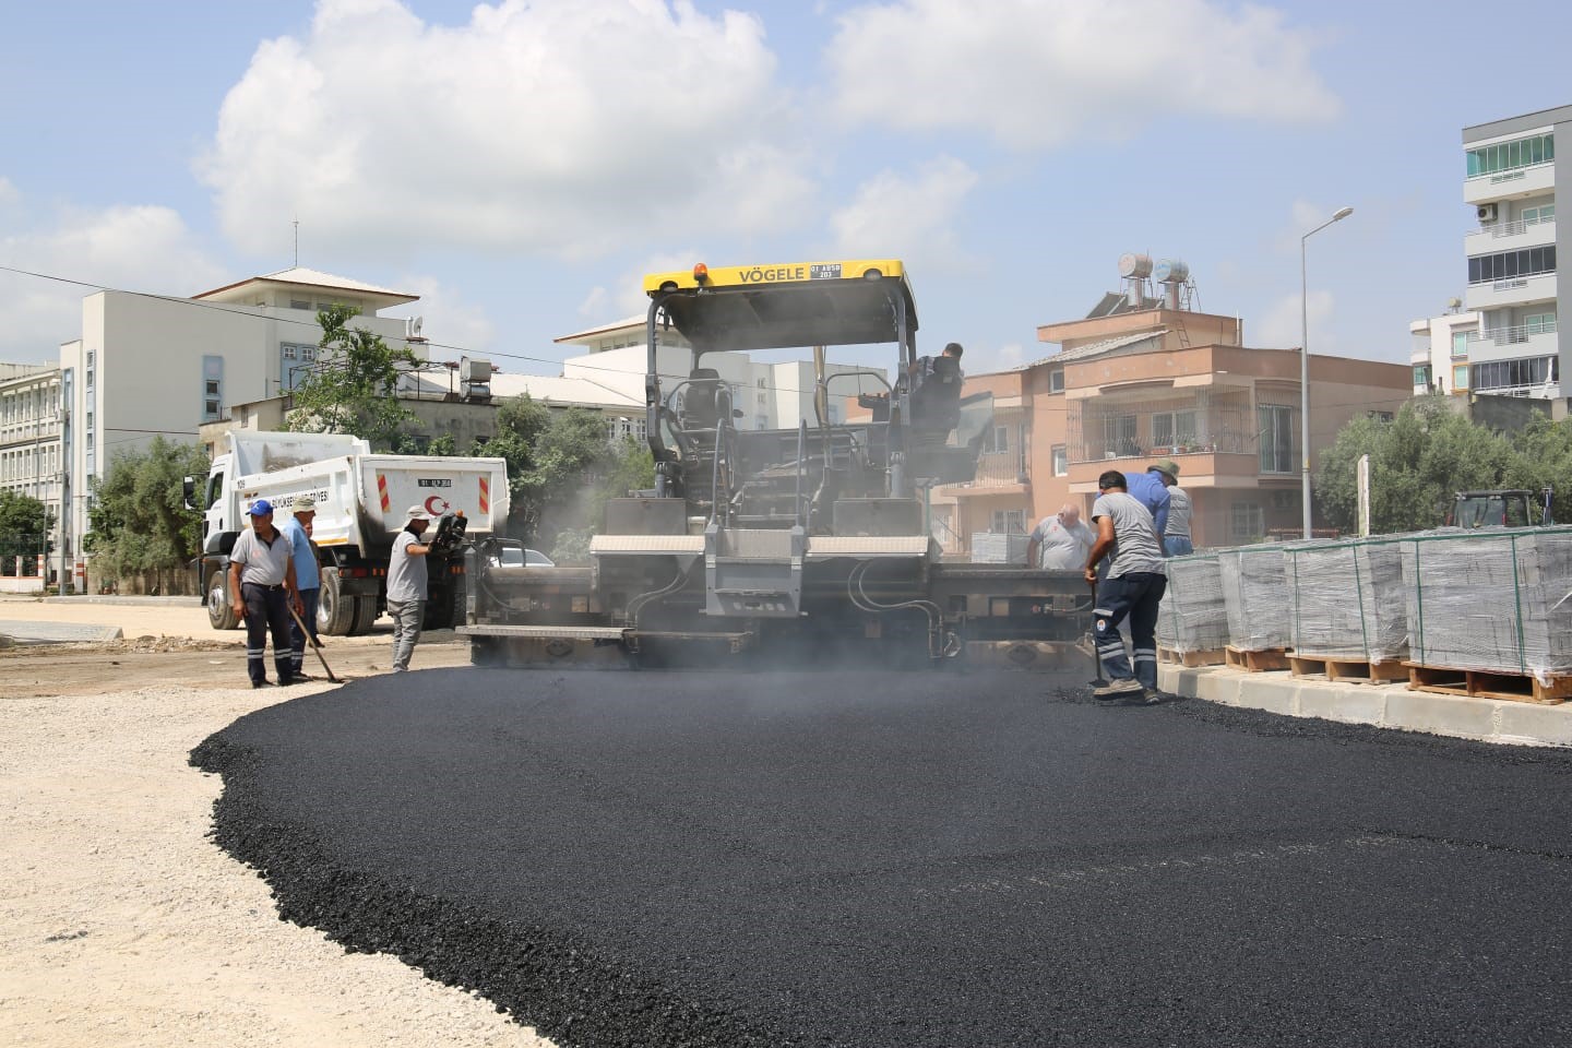
[(1556, 248), (1572, 234), (1559, 233), (1556, 196), (1572, 193), (1572, 165), (1556, 167), (1558, 138), (1572, 141), (1572, 105), (1464, 129), (1464, 201), (1479, 222), (1464, 240), (1464, 305), (1479, 314), (1467, 360), (1475, 393), (1563, 396)]

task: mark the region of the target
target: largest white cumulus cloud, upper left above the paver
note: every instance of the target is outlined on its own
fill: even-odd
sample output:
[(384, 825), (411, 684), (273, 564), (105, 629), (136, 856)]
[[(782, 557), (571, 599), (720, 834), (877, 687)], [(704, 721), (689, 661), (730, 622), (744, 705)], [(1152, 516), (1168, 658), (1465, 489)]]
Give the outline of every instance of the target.
[(503, 0), (461, 27), (321, 0), (258, 47), (200, 160), (225, 231), (591, 258), (800, 222), (811, 184), (758, 19), (689, 0)]

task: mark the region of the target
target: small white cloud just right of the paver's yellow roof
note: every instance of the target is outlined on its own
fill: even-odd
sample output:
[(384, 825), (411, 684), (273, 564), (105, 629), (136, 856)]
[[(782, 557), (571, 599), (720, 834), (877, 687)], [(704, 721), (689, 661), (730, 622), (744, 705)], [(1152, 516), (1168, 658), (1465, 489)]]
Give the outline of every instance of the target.
[(954, 157), (931, 160), (912, 176), (880, 171), (830, 217), (835, 248), (846, 258), (893, 255), (953, 272), (964, 264), (954, 220), (976, 184), (976, 171)]

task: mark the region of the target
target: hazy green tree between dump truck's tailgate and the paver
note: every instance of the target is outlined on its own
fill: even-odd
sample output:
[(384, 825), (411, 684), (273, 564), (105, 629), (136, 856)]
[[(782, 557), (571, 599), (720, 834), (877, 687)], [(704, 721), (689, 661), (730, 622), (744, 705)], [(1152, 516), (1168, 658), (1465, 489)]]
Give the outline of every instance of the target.
[(553, 412), (528, 394), (497, 409), (497, 435), (472, 454), (508, 460), (508, 533), (564, 561), (588, 555), (608, 498), (654, 484), (649, 449), (610, 442), (596, 412)]

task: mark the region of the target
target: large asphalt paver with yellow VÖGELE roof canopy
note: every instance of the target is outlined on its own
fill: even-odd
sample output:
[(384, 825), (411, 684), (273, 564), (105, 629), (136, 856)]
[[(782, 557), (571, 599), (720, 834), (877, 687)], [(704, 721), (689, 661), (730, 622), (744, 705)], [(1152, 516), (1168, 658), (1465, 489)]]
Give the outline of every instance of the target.
[[(901, 261), (700, 264), (646, 277), (645, 291), (654, 487), (610, 500), (588, 564), (506, 564), (495, 544), (475, 544), (459, 627), (473, 661), (1071, 657), (1091, 606), (1080, 572), (940, 556), (927, 498), (975, 479), (992, 396), (960, 394), (959, 361), (918, 357)], [(679, 346), (687, 366), (673, 372)], [(836, 390), (868, 372), (827, 376), (835, 346), (887, 346), (893, 382)], [(814, 354), (813, 418), (739, 427), (740, 391), (706, 357), (783, 349)], [(832, 421), (836, 396), (866, 416)]]

